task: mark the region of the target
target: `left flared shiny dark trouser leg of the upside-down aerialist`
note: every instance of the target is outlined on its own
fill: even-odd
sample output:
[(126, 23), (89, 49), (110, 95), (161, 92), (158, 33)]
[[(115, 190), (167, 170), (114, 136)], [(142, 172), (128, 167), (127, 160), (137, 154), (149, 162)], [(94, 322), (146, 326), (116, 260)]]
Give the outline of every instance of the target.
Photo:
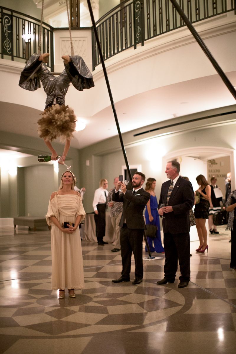
[(38, 61), (39, 56), (39, 54), (31, 55), (25, 65), (19, 81), (19, 86), (22, 87), (22, 89), (35, 91), (40, 88), (41, 85), (37, 71), (40, 69), (42, 62)]

